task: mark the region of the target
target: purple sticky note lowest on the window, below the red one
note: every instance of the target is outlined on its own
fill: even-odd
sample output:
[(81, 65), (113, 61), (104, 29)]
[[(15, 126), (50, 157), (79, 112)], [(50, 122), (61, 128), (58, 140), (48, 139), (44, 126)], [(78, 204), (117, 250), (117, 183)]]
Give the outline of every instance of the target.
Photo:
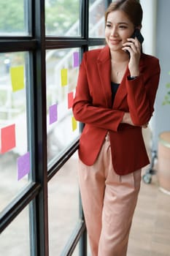
[(26, 176), (30, 172), (30, 154), (29, 152), (24, 154), (21, 157), (18, 157), (17, 159), (18, 164), (18, 181), (20, 178), (23, 178), (23, 176)]

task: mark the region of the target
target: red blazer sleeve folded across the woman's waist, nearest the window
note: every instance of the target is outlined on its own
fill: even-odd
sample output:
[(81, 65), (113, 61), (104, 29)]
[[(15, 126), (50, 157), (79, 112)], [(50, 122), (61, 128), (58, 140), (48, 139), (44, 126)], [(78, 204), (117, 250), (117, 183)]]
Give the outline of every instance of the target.
[[(74, 118), (85, 124), (91, 124), (102, 129), (117, 131), (123, 119), (124, 112), (113, 110), (106, 106), (94, 106), (89, 89), (88, 65), (86, 64), (86, 54), (82, 58), (80, 72), (77, 80), (77, 88), (73, 101)], [(93, 68), (91, 66), (91, 68)]]

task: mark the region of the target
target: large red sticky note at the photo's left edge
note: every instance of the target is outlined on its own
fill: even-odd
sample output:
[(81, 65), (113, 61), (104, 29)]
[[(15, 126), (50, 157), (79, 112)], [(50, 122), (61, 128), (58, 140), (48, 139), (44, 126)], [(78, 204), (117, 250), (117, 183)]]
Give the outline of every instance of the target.
[(1, 153), (15, 148), (15, 124), (1, 128)]

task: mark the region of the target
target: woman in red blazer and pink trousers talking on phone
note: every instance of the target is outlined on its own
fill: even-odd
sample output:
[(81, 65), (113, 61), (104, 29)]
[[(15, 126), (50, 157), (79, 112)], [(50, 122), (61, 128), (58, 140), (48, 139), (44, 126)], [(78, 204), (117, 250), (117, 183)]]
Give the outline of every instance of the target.
[(142, 27), (136, 0), (106, 12), (103, 49), (84, 53), (74, 98), (80, 138), (79, 181), (93, 256), (125, 256), (141, 181), (149, 164), (142, 138), (158, 89), (158, 59), (131, 35)]

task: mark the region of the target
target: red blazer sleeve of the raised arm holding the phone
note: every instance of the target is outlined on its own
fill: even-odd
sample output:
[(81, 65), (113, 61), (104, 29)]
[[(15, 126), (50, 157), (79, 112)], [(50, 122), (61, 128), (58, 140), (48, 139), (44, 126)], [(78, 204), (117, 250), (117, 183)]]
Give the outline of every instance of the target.
[(128, 108), (136, 126), (142, 126), (150, 121), (154, 111), (153, 106), (161, 69), (159, 61), (155, 57), (148, 62), (144, 72), (138, 78), (126, 80)]

